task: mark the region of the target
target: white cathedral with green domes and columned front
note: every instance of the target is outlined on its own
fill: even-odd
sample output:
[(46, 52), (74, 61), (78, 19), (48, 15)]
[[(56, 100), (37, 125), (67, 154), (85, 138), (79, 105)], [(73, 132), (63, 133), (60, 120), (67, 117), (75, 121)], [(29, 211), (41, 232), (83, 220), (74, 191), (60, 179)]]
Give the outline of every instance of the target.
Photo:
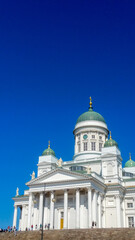
[(118, 144), (108, 135), (104, 118), (89, 110), (74, 128), (74, 156), (62, 161), (48, 148), (26, 183), (28, 190), (14, 200), (13, 226), (19, 229), (121, 228), (135, 226), (135, 162), (122, 168)]

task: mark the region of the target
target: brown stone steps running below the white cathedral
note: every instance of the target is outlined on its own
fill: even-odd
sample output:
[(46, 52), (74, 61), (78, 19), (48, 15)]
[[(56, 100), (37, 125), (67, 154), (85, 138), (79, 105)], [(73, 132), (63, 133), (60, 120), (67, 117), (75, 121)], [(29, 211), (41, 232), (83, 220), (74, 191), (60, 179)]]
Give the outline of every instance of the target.
[[(40, 240), (40, 231), (0, 233), (0, 240)], [(44, 231), (44, 240), (135, 240), (135, 228)]]

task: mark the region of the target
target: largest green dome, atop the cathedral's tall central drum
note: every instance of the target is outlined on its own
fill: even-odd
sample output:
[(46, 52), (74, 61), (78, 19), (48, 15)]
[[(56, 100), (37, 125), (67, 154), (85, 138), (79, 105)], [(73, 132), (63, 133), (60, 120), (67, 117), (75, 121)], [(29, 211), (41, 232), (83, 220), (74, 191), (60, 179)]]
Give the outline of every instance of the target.
[(94, 112), (91, 108), (89, 109), (89, 111), (81, 114), (80, 117), (77, 119), (76, 123), (92, 120), (106, 123), (105, 119), (99, 113)]

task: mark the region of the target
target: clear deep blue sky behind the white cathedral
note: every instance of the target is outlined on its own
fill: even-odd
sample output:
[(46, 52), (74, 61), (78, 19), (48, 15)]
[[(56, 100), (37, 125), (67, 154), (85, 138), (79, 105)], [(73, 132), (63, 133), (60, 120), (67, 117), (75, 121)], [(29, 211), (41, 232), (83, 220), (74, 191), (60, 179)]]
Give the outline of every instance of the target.
[(12, 225), (11, 198), (17, 187), (23, 194), (48, 140), (72, 159), (89, 96), (123, 164), (129, 152), (135, 160), (134, 1), (2, 0), (0, 227)]

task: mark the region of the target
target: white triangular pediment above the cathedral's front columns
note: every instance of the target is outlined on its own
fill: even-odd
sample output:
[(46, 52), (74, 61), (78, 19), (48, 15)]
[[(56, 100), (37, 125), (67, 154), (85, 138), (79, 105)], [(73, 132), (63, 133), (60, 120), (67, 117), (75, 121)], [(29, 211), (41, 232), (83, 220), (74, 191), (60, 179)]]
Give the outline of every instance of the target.
[(26, 185), (83, 180), (86, 178), (88, 178), (88, 176), (83, 174), (72, 173), (71, 171), (65, 170), (65, 169), (57, 169), (57, 170), (52, 170), (48, 173), (41, 175), (38, 178), (31, 180)]

